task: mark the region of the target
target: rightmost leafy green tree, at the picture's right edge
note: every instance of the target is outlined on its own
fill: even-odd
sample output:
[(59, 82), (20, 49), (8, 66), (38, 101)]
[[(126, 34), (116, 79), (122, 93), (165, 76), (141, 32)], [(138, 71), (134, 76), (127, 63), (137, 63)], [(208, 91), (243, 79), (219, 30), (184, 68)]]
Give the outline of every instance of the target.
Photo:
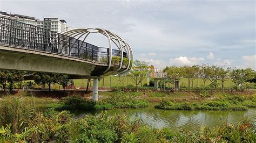
[(236, 69), (233, 68), (230, 71), (230, 77), (235, 83), (235, 85), (242, 85), (248, 80), (251, 80), (254, 77), (254, 71), (251, 68), (246, 69)]

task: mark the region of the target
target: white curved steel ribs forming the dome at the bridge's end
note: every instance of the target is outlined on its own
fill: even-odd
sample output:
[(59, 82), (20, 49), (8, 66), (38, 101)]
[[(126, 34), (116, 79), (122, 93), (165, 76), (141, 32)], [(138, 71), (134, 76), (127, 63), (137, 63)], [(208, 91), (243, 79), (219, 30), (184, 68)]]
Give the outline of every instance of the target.
[[(113, 72), (113, 74), (123, 74), (123, 73), (127, 73), (131, 70), (132, 68), (132, 62), (133, 62), (133, 51), (131, 49), (131, 46), (129, 44), (127, 44), (127, 42), (120, 37), (119, 35), (117, 35), (114, 32), (111, 32), (109, 30), (105, 30), (103, 28), (73, 28), (71, 30), (65, 31), (62, 34), (68, 35), (70, 37), (76, 38), (78, 40), (81, 40), (83, 42), (85, 42), (86, 38), (88, 37), (89, 34), (91, 33), (100, 33), (102, 35), (104, 35), (108, 40), (109, 40), (109, 49), (110, 49), (110, 54), (109, 54), (109, 65), (107, 67), (107, 69), (104, 71), (104, 74), (109, 71), (110, 67), (111, 67), (111, 61), (112, 61), (112, 44), (111, 41), (114, 43), (114, 45), (116, 45), (121, 53), (121, 61), (120, 61), (120, 65), (119, 68)], [(82, 38), (85, 35), (84, 38)], [(127, 53), (127, 58), (129, 60), (128, 62), (128, 66), (125, 70), (121, 70), (122, 66), (123, 66), (123, 51), (126, 51)]]

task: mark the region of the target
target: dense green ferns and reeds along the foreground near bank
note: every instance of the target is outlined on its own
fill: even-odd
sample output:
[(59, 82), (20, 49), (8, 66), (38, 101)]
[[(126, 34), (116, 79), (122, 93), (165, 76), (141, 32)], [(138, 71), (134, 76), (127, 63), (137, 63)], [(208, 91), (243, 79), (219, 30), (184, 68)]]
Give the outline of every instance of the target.
[(69, 111), (35, 110), (34, 98), (4, 97), (0, 101), (0, 142), (254, 142), (256, 125), (243, 119), (236, 124), (221, 121), (194, 132), (161, 130), (140, 124), (126, 115), (75, 119)]

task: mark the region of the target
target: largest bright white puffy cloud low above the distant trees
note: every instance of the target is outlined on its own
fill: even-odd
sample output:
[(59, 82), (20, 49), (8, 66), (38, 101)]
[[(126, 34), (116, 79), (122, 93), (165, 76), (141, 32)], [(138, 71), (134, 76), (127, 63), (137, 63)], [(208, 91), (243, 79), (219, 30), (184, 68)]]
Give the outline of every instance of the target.
[(186, 56), (180, 56), (179, 58), (170, 59), (169, 62), (171, 66), (193, 66), (200, 64), (202, 61), (204, 61), (204, 58), (187, 58)]

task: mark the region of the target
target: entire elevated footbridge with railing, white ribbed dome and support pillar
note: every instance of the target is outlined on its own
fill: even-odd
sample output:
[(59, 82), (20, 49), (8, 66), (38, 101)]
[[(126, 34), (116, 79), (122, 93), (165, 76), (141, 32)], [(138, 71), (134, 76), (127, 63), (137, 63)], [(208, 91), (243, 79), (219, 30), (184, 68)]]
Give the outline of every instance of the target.
[[(86, 42), (92, 33), (104, 35), (109, 40), (108, 47)], [(112, 43), (117, 49), (113, 49)], [(0, 17), (0, 69), (93, 78), (93, 99), (97, 101), (98, 78), (127, 73), (132, 62), (131, 46), (104, 28), (75, 28), (57, 33)]]

